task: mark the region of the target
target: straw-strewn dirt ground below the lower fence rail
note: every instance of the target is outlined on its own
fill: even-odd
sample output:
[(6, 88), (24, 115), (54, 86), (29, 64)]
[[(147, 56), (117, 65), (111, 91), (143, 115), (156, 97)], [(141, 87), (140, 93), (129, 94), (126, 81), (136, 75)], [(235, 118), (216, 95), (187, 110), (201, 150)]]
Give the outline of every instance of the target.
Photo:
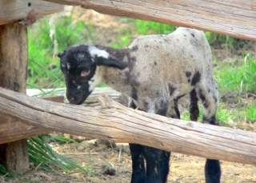
[[(32, 170), (23, 177), (30, 181), (43, 183), (127, 183), (131, 177), (131, 160), (129, 145), (118, 144), (113, 149), (96, 140), (82, 141), (88, 149), (82, 146), (70, 144), (58, 147), (54, 144), (58, 152), (66, 151), (66, 156), (76, 161), (79, 165), (91, 167), (91, 176), (80, 171), (74, 173), (50, 173), (38, 169)], [(72, 153), (70, 153), (72, 152)], [(180, 153), (172, 153), (170, 161), (169, 183), (202, 183), (204, 181), (205, 158), (187, 156)], [(221, 161), (222, 183), (234, 182), (256, 182), (255, 165), (245, 165), (233, 162)], [(1, 181), (0, 179), (0, 182)], [(21, 183), (19, 180), (9, 181), (11, 183)]]

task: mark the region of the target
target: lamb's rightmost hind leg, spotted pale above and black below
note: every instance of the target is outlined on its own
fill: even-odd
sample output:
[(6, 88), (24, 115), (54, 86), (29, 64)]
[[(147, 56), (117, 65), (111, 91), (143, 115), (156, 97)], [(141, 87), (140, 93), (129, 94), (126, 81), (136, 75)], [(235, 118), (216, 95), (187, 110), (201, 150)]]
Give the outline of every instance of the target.
[[(197, 92), (198, 97), (200, 97), (202, 101), (202, 122), (210, 123), (210, 125), (219, 125), (216, 119), (216, 109), (218, 105), (218, 90), (216, 88), (206, 89), (203, 86), (199, 86)], [(219, 161), (206, 159), (206, 183), (219, 183), (221, 179), (221, 174), (221, 166)]]

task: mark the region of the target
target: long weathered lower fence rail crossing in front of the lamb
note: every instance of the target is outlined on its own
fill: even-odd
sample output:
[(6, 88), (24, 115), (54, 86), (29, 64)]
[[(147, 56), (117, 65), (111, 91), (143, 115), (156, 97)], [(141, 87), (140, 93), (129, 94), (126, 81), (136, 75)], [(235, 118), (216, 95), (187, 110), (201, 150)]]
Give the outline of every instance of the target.
[(246, 164), (256, 164), (256, 134), (126, 108), (101, 97), (101, 108), (45, 101), (0, 88), (0, 113), (46, 129)]

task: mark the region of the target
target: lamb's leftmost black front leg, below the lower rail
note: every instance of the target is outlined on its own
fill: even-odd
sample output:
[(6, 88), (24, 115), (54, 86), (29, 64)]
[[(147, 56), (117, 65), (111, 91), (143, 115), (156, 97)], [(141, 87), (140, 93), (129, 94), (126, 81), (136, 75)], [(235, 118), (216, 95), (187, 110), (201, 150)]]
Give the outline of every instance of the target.
[(144, 183), (146, 181), (146, 170), (144, 164), (144, 146), (138, 144), (130, 145), (130, 155), (132, 160), (133, 173), (131, 183)]

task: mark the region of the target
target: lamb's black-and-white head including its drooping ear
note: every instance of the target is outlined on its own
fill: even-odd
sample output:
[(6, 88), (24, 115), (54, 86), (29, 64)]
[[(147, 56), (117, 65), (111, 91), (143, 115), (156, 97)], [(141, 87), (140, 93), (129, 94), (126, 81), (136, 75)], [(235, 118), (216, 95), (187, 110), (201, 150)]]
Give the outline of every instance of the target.
[(125, 63), (116, 60), (106, 50), (87, 44), (70, 46), (58, 57), (66, 80), (66, 97), (71, 104), (82, 104), (101, 82), (101, 76), (96, 72), (98, 66), (126, 68)]

